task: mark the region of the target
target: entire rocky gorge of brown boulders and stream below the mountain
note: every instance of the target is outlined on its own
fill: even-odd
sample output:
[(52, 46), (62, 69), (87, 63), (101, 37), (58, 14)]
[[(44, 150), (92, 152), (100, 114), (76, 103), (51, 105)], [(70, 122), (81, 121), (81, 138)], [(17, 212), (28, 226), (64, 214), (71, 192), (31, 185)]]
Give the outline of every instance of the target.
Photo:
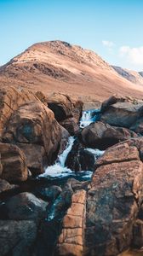
[(0, 255), (143, 254), (142, 136), (141, 100), (1, 89)]

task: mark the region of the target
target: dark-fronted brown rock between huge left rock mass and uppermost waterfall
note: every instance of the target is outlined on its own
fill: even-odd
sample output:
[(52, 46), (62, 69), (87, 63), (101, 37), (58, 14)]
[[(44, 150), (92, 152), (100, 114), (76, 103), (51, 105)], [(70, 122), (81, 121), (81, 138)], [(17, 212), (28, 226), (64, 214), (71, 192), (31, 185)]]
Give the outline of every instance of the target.
[(54, 112), (55, 119), (71, 135), (77, 133), (79, 119), (83, 111), (83, 102), (64, 94), (54, 93), (48, 98), (48, 107)]

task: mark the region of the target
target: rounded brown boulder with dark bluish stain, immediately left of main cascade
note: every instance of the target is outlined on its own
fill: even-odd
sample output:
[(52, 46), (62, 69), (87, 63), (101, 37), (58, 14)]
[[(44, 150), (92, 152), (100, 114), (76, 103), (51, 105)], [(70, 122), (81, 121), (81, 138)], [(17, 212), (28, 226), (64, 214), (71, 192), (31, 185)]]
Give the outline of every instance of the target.
[[(42, 102), (30, 102), (22, 105), (14, 111), (9, 119), (3, 139), (7, 143), (22, 143), (20, 148), (25, 148), (23, 143), (27, 144), (27, 153), (31, 153), (27, 162), (31, 158), (31, 171), (43, 172), (43, 156), (47, 156), (47, 162), (50, 165), (55, 159), (60, 148), (61, 128), (54, 119), (54, 113)], [(31, 145), (32, 144), (32, 145)], [(30, 146), (31, 145), (31, 146)], [(41, 146), (41, 147), (39, 147)], [(36, 154), (39, 154), (38, 160)], [(35, 159), (35, 161), (34, 161)], [(37, 168), (39, 167), (39, 171)]]

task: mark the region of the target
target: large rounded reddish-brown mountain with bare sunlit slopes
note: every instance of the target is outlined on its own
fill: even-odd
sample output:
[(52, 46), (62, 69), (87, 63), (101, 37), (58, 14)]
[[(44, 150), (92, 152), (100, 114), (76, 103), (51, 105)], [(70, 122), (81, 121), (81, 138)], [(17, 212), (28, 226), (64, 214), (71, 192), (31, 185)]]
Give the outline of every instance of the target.
[(0, 67), (0, 86), (44, 93), (68, 93), (83, 101), (101, 101), (114, 93), (143, 98), (143, 87), (122, 77), (89, 49), (62, 41), (33, 44)]

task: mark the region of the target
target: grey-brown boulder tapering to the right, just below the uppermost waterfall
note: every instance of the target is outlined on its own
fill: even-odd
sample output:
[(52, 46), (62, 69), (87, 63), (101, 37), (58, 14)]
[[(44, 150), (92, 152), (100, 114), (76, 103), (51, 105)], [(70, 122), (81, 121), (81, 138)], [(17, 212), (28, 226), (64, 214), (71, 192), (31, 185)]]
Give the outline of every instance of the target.
[(104, 150), (131, 137), (137, 137), (133, 131), (122, 127), (112, 127), (103, 122), (95, 122), (81, 132), (82, 142), (86, 147)]

